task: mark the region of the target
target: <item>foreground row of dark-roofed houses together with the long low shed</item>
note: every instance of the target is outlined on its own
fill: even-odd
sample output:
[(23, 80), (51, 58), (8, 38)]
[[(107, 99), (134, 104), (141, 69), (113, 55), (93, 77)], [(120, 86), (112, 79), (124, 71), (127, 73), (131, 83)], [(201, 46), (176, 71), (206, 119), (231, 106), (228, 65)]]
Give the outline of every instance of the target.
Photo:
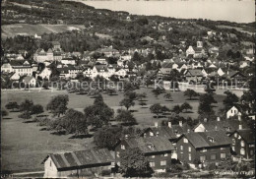
[[(231, 109), (230, 109), (231, 110)], [(229, 110), (228, 110), (229, 111)], [(227, 111), (227, 113), (228, 113)], [(144, 129), (139, 137), (125, 135), (112, 150), (86, 149), (52, 153), (43, 160), (44, 177), (80, 176), (83, 173), (114, 173), (120, 166), (120, 153), (126, 149), (140, 149), (155, 172), (169, 169), (170, 163), (188, 163), (192, 168), (217, 166), (226, 159), (252, 160), (255, 156), (254, 135), (242, 126), (240, 117), (228, 121), (216, 120), (198, 123), (191, 128), (186, 123), (167, 123)]]

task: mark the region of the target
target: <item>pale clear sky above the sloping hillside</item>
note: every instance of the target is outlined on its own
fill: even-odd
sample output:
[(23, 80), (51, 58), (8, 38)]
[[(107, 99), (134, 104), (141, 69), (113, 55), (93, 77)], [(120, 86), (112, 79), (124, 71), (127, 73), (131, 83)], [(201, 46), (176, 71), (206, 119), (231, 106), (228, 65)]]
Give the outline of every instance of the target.
[(78, 0), (96, 9), (127, 11), (181, 19), (209, 19), (236, 23), (255, 22), (254, 0)]

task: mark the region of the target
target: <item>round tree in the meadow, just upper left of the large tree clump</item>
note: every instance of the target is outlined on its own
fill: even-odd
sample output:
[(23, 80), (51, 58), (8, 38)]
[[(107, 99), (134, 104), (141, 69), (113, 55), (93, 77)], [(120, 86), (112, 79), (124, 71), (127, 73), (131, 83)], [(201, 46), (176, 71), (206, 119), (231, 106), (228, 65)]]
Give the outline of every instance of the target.
[(60, 116), (66, 112), (69, 96), (67, 94), (59, 94), (53, 96), (46, 106), (46, 110), (49, 110), (53, 116)]

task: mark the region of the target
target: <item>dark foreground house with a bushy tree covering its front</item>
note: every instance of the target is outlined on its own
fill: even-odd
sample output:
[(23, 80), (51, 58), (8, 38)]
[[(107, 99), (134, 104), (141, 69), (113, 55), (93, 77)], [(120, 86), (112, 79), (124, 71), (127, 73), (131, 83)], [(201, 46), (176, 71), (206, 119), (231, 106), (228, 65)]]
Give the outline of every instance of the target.
[(169, 141), (162, 137), (124, 139), (114, 149), (117, 165), (120, 165), (120, 152), (134, 148), (142, 150), (155, 171), (165, 170), (167, 164), (171, 162), (171, 153), (174, 150)]

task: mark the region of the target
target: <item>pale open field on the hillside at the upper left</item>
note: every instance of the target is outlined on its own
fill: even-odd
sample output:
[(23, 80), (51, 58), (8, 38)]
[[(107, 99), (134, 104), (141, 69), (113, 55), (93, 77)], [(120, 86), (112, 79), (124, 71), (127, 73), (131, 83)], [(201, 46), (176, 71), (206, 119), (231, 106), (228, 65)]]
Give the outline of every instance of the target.
[(42, 33), (58, 33), (68, 30), (83, 30), (83, 25), (29, 25), (29, 24), (14, 24), (4, 25), (2, 28), (2, 38), (22, 35), (40, 35)]

